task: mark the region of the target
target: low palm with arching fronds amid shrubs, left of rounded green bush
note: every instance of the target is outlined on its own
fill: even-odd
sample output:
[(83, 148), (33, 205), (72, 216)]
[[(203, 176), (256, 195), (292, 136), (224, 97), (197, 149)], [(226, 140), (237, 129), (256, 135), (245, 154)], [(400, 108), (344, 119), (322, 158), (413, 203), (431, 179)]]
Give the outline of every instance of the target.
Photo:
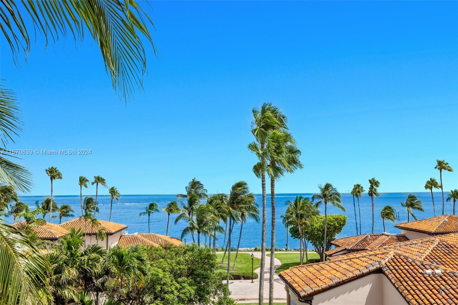
[(113, 297), (121, 277), (142, 278), (147, 273), (147, 256), (142, 245), (127, 248), (115, 245), (108, 251), (105, 264), (115, 277), (110, 298)]

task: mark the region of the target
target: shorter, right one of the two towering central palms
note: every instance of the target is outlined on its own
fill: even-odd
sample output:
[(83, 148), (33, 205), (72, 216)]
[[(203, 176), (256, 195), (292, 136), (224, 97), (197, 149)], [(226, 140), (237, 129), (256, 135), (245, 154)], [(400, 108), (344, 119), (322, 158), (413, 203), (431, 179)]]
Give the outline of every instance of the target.
[(270, 244), (270, 278), (269, 278), (269, 305), (273, 304), (273, 277), (275, 257), (275, 180), (282, 177), (285, 172), (294, 173), (302, 168), (299, 161), (300, 150), (296, 147), (293, 136), (286, 131), (271, 131), (267, 137), (267, 174), (270, 177), (270, 197), (272, 209), (272, 229)]

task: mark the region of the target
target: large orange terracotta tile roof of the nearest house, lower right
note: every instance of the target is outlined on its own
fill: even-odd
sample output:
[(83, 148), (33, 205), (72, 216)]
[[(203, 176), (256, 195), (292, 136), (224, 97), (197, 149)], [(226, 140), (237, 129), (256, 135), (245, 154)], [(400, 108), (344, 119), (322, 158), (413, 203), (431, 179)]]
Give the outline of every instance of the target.
[[(338, 259), (336, 259), (338, 257)], [(441, 270), (427, 275), (425, 270)], [(400, 242), (280, 273), (300, 299), (380, 270), (411, 305), (458, 304), (458, 234)]]

